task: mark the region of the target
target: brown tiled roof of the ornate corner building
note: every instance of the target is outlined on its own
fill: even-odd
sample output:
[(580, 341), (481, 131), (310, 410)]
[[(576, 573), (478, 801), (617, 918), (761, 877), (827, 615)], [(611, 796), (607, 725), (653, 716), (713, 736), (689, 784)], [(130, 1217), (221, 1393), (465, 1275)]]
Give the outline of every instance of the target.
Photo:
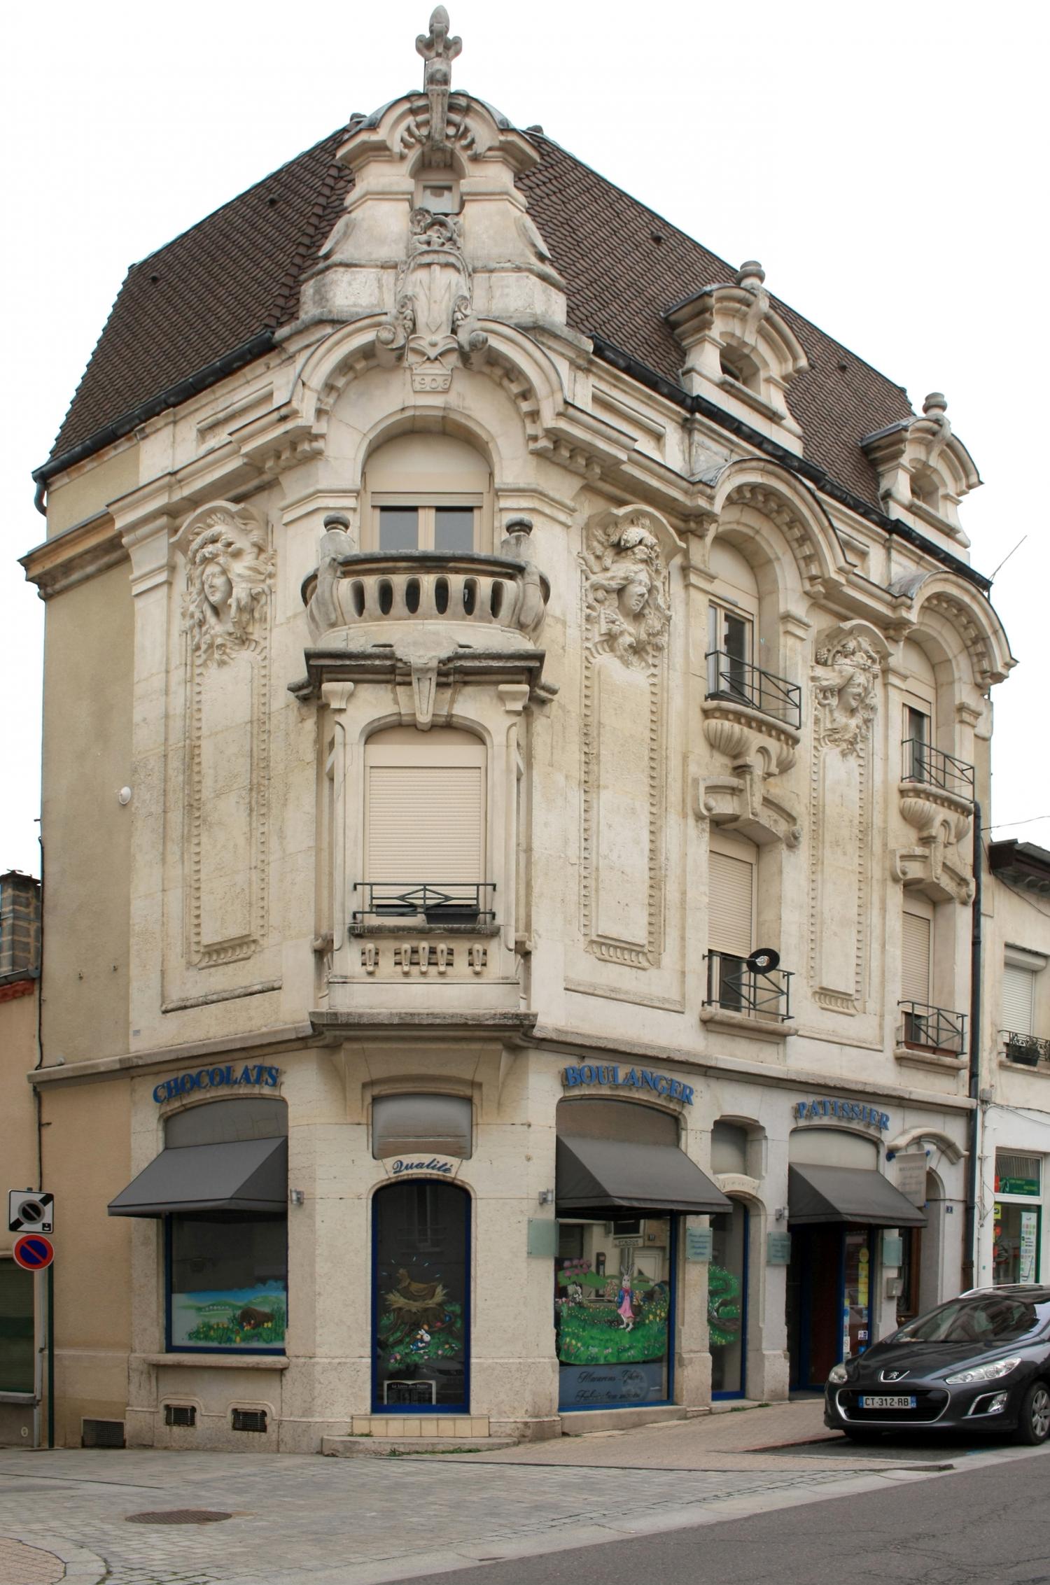
[[(331, 133), (132, 266), (54, 458), (295, 319), (301, 277), (351, 182), (335, 163), (344, 136), (344, 128)], [(555, 143), (531, 136), (541, 163), (519, 184), (565, 277), (569, 323), (677, 384), (682, 349), (663, 314), (704, 285), (731, 281), (731, 266)], [(787, 304), (779, 307), (810, 365), (788, 391), (806, 456), (877, 506), (858, 442), (910, 417), (907, 396)]]

